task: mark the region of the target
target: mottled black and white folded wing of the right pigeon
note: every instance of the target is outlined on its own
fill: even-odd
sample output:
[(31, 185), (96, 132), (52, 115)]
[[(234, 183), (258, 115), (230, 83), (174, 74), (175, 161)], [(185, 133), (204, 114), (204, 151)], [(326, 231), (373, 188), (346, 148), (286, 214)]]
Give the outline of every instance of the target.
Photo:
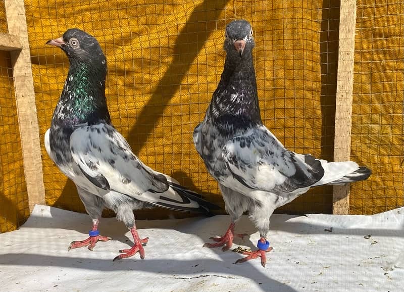
[(230, 139), (223, 159), (244, 186), (275, 193), (310, 187), (324, 175), (319, 160), (288, 151), (265, 126)]

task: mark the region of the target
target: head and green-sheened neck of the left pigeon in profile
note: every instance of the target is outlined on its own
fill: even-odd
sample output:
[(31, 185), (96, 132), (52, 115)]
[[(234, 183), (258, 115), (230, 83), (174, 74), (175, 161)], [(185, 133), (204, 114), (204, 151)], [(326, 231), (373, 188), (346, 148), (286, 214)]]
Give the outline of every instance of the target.
[(92, 35), (72, 28), (46, 44), (60, 47), (70, 62), (52, 123), (59, 123), (70, 130), (80, 123), (109, 123), (105, 96), (107, 60), (98, 41)]

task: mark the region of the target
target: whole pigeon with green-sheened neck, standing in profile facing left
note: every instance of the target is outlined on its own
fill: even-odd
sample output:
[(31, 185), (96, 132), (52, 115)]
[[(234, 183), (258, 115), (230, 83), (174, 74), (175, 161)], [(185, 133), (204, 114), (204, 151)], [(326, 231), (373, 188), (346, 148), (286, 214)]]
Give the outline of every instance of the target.
[(133, 210), (159, 206), (209, 213), (209, 209), (219, 208), (175, 179), (147, 167), (132, 153), (111, 123), (105, 96), (107, 60), (93, 36), (72, 28), (46, 44), (60, 47), (70, 62), (51, 127), (45, 133), (46, 152), (76, 184), (92, 219), (89, 237), (71, 242), (69, 250), (84, 246), (92, 250), (97, 241), (111, 239), (98, 231), (105, 207), (125, 223), (134, 240), (134, 246), (119, 251), (114, 260), (137, 252), (144, 258), (143, 244), (148, 237), (140, 239)]

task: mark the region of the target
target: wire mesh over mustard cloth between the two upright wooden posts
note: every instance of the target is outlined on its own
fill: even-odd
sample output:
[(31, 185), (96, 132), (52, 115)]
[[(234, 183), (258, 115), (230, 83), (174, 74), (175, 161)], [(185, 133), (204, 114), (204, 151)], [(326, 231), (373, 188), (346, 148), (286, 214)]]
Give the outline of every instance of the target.
[[(49, 127), (68, 59), (45, 47), (71, 27), (94, 35), (108, 60), (112, 120), (134, 153), (150, 167), (223, 206), (217, 183), (193, 147), (220, 79), (224, 28), (238, 18), (255, 31), (259, 98), (265, 124), (291, 150), (332, 159), (338, 40), (332, 1), (27, 1), (40, 137)], [(48, 205), (84, 211), (73, 183), (43, 149)], [(332, 210), (332, 189), (317, 188), (282, 212)], [(164, 217), (164, 210), (142, 216)]]

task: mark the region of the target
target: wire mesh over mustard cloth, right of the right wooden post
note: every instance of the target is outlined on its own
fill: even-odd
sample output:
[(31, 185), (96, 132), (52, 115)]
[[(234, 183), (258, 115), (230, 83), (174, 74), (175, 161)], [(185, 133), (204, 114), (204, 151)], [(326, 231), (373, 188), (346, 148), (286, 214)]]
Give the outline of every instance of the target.
[(351, 157), (372, 179), (351, 187), (353, 214), (403, 205), (404, 2), (357, 2)]

